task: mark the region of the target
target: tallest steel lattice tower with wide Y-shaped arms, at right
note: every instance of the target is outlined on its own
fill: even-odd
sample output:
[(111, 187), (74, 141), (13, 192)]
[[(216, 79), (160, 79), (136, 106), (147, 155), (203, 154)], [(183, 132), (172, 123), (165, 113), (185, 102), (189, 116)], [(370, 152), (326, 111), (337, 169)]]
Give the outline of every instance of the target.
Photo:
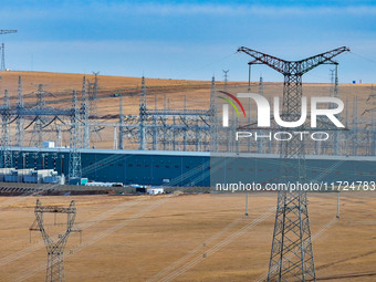
[[(333, 64), (332, 59), (345, 51), (349, 49), (342, 46), (301, 61), (285, 61), (244, 46), (238, 50), (283, 74), (281, 117), (285, 122), (297, 121), (301, 116), (303, 74), (321, 64)], [(280, 153), (282, 179), (305, 181), (304, 142), (295, 135), (281, 144)], [(268, 281), (316, 281), (306, 192), (280, 191), (278, 195)]]

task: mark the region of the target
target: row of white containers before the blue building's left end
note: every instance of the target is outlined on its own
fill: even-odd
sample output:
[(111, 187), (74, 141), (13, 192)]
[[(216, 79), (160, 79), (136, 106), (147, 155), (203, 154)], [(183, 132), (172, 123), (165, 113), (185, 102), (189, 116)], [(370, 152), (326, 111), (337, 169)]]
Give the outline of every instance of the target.
[(0, 181), (24, 184), (65, 184), (64, 175), (58, 175), (53, 169), (15, 169), (0, 168)]

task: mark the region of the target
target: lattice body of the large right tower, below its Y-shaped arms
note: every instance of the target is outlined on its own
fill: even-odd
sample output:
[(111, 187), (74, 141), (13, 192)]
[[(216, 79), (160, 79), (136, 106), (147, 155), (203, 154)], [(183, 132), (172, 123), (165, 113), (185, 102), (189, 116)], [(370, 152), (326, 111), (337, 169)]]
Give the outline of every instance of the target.
[[(302, 76), (285, 75), (282, 117), (297, 121), (301, 111)], [(281, 143), (281, 181), (306, 181), (304, 155), (299, 136)], [(305, 191), (279, 191), (268, 281), (316, 281)]]

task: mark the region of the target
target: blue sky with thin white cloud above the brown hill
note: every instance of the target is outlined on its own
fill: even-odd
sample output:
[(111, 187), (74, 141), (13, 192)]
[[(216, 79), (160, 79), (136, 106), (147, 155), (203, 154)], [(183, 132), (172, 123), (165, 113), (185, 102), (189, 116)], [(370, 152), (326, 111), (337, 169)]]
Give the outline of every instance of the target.
[[(296, 3), (299, 2), (299, 3)], [(300, 60), (337, 46), (340, 82), (376, 82), (376, 1), (2, 1), (7, 67), (247, 80), (248, 46)], [(330, 81), (331, 66), (304, 81)], [(253, 80), (282, 81), (267, 66)]]

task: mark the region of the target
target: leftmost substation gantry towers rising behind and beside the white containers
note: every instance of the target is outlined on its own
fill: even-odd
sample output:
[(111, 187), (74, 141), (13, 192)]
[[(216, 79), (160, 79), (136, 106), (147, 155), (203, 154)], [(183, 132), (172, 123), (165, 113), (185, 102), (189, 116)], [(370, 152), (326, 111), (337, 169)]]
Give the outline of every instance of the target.
[[(10, 149), (12, 146), (11, 130), (14, 124), (14, 146), (20, 150), (25, 146), (25, 130), (33, 125), (30, 138), (30, 146), (41, 147), (43, 143), (43, 133), (54, 123), (60, 123), (69, 127), (70, 132), (70, 168), (69, 178), (80, 178), (81, 173), (81, 149), (88, 147), (90, 130), (90, 105), (88, 92), (86, 91), (86, 79), (83, 79), (82, 103), (79, 104), (76, 91), (72, 92), (72, 106), (69, 108), (49, 106), (45, 96), (52, 95), (44, 91), (43, 84), (38, 85), (38, 91), (23, 95), (22, 79), (18, 81), (17, 104), (11, 105), (8, 91), (4, 91), (3, 104), (0, 106), (1, 115), (1, 153), (0, 165), (2, 168), (13, 167), (13, 155)], [(23, 98), (36, 96), (36, 103), (25, 105)], [(66, 121), (67, 119), (67, 121)], [(25, 125), (25, 121), (30, 123)], [(61, 133), (60, 133), (61, 134)]]

